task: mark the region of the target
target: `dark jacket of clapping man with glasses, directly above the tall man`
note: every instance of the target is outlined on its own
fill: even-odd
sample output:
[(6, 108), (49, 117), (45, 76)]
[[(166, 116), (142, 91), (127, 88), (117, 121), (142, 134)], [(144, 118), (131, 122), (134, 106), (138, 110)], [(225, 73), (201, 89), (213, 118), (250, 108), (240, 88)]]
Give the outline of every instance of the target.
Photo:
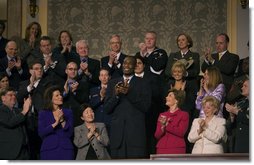
[(123, 76), (123, 60), (127, 55), (121, 53), (119, 56), (119, 63), (121, 64), (120, 68), (118, 68), (116, 65), (113, 65), (112, 67), (109, 67), (108, 65), (108, 61), (109, 61), (109, 56), (105, 56), (101, 58), (101, 67), (102, 68), (106, 68), (107, 70), (109, 70), (109, 73), (111, 75), (111, 79), (112, 78), (117, 78), (117, 77), (121, 77)]

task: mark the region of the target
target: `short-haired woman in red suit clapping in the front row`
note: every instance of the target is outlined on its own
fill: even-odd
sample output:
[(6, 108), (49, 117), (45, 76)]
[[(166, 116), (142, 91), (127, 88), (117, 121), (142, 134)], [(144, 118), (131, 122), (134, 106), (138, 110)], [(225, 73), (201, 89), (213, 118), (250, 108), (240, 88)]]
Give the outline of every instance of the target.
[(183, 103), (185, 92), (171, 89), (166, 97), (166, 112), (159, 115), (155, 138), (157, 154), (184, 154), (186, 145), (184, 135), (188, 129), (189, 115), (178, 107)]

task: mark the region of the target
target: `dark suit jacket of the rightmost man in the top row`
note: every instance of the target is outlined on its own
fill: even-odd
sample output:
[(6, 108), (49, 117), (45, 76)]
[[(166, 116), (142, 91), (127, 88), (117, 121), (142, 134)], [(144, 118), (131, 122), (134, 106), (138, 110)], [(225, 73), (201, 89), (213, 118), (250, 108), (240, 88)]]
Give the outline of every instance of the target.
[(201, 66), (202, 72), (205, 72), (206, 68), (209, 66), (218, 67), (222, 75), (223, 84), (226, 87), (226, 93), (228, 93), (234, 81), (234, 74), (239, 62), (239, 56), (227, 51), (220, 60), (218, 53), (212, 54), (212, 58), (215, 60), (213, 64), (208, 64), (205, 61), (203, 62)]

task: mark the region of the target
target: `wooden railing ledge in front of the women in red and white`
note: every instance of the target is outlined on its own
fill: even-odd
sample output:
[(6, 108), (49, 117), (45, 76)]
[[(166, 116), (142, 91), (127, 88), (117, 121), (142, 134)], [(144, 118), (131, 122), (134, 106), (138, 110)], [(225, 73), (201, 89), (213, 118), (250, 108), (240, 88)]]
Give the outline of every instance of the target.
[(174, 160), (174, 161), (250, 161), (247, 153), (224, 153), (224, 154), (152, 154), (150, 160)]

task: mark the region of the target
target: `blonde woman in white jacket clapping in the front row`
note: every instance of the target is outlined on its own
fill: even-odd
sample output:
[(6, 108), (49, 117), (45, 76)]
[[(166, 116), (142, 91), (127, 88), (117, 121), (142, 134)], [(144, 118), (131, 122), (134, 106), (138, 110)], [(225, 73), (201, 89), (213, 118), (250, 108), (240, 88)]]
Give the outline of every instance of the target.
[(214, 96), (206, 96), (202, 100), (205, 118), (196, 118), (192, 122), (188, 140), (195, 143), (192, 154), (224, 153), (223, 143), (226, 142), (226, 120), (216, 116), (219, 101)]

